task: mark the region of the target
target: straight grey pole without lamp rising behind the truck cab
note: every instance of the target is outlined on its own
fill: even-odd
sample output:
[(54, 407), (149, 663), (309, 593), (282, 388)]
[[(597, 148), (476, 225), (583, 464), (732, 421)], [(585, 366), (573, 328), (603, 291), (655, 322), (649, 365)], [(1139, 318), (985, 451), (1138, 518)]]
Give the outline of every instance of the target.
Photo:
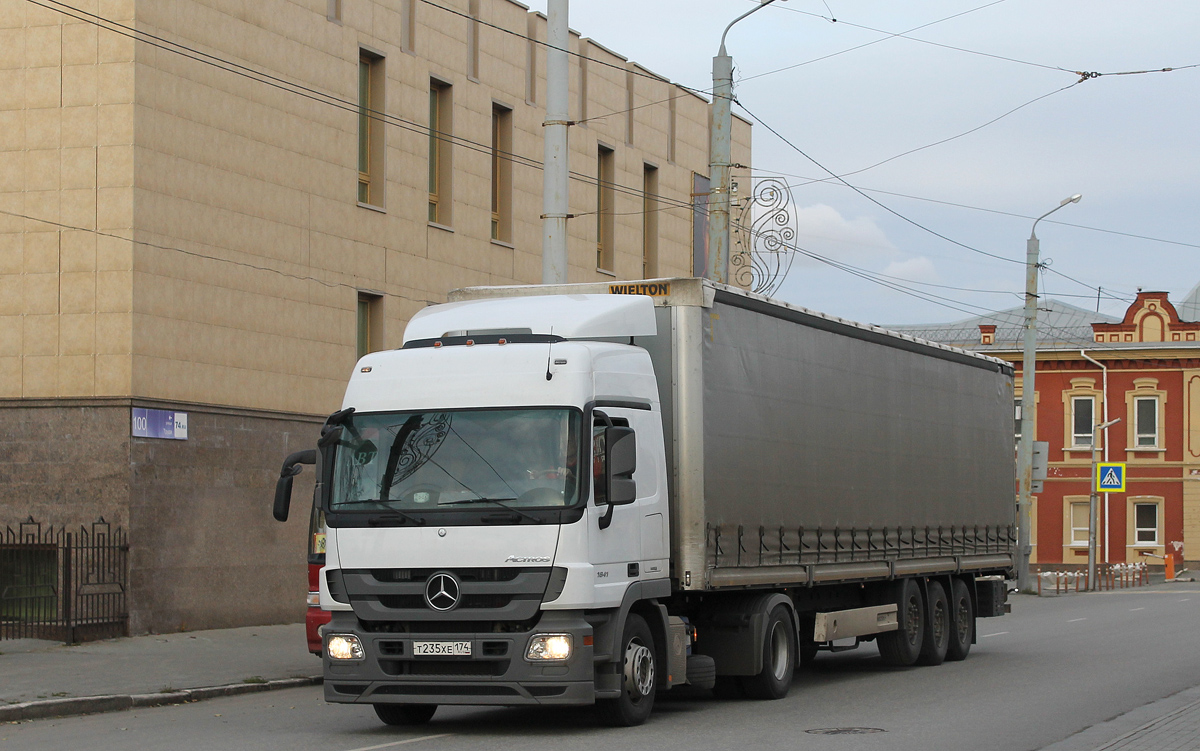
[(568, 74), (570, 43), (569, 0), (550, 0), (546, 23), (546, 120), (542, 168), (541, 283), (566, 283), (566, 220), (569, 164), (566, 151)]

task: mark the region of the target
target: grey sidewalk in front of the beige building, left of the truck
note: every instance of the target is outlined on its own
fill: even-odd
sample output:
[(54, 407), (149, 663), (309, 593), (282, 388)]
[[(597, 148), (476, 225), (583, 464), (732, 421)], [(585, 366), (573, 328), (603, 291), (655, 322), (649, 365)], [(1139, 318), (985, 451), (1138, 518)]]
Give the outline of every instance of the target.
[(175, 704), (320, 680), (304, 624), (66, 647), (0, 642), (0, 722)]

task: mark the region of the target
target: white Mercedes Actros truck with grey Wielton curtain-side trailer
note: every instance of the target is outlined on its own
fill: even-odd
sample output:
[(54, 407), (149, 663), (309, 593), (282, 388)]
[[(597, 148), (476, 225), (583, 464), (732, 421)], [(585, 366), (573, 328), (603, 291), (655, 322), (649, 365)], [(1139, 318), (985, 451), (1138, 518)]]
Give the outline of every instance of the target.
[(779, 698), (820, 649), (967, 656), (1007, 609), (1013, 371), (704, 280), (474, 288), (355, 366), (317, 449), (324, 692)]

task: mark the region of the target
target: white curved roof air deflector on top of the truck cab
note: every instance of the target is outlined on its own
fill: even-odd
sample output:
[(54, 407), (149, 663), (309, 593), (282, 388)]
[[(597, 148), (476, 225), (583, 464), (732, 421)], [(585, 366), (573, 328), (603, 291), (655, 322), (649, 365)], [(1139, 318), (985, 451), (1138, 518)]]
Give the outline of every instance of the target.
[(566, 340), (654, 336), (644, 295), (545, 295), (430, 306), (408, 322), (404, 343), (472, 334), (552, 334)]

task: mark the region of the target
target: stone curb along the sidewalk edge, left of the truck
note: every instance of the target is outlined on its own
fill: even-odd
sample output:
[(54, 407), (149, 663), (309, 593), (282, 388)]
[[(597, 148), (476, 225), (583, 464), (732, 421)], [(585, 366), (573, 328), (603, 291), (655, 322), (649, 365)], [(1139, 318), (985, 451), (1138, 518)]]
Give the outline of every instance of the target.
[(0, 707), (0, 722), (19, 722), (22, 720), (43, 720), (46, 717), (70, 717), (71, 715), (90, 715), (102, 711), (122, 711), (138, 707), (162, 707), (163, 704), (184, 704), (202, 699), (215, 699), (222, 696), (241, 693), (260, 693), (282, 689), (316, 686), (324, 683), (320, 675), (308, 678), (282, 678), (264, 683), (235, 683), (224, 686), (205, 686), (200, 689), (181, 689), (158, 693), (109, 693), (106, 696), (80, 696), (59, 699), (40, 699)]

